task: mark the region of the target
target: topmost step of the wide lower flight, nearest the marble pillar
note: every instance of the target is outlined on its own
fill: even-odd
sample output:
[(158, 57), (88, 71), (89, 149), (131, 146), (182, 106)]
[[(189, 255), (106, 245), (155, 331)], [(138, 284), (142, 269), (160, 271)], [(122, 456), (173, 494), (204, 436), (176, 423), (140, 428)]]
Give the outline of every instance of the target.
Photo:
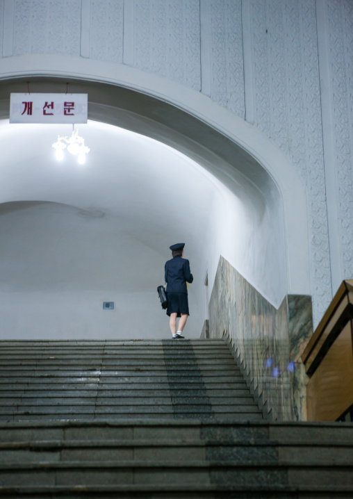
[(353, 445), (353, 423), (240, 423), (238, 420), (174, 420), (159, 419), (154, 422), (129, 418), (118, 422), (99, 420), (95, 423), (58, 421), (56, 423), (3, 423), (0, 425), (0, 442), (23, 441), (131, 441), (132, 439), (202, 440), (211, 442), (268, 443), (281, 442), (299, 446)]

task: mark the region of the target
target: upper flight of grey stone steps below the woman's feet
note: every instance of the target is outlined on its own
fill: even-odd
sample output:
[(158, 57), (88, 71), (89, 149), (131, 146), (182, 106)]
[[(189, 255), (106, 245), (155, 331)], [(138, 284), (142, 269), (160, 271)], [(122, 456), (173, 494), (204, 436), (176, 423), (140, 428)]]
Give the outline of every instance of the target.
[(0, 421), (261, 420), (222, 340), (2, 341)]

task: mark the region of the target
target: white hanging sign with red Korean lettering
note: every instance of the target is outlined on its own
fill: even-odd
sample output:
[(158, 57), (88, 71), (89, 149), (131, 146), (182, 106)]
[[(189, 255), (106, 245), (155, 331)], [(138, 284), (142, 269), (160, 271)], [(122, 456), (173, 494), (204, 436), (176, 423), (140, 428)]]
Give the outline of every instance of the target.
[(11, 94), (10, 123), (87, 123), (87, 94)]

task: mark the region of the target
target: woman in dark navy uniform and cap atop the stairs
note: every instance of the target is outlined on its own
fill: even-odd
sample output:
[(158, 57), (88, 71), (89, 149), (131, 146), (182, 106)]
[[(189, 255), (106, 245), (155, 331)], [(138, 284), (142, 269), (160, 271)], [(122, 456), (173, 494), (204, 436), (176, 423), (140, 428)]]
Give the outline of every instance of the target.
[[(192, 283), (194, 278), (190, 272), (189, 261), (183, 258), (185, 243), (170, 246), (171, 260), (165, 263), (164, 273), (167, 283), (167, 315), (170, 316), (172, 338), (184, 338), (183, 329), (189, 316), (188, 288), (186, 283)], [(177, 330), (177, 317), (180, 317)]]

